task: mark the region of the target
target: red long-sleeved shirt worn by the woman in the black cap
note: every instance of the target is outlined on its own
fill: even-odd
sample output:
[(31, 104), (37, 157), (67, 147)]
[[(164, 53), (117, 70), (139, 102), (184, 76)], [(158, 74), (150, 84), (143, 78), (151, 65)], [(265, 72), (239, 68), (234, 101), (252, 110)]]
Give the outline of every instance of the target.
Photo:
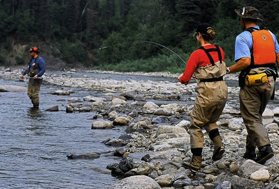
[[(208, 46), (203, 46), (203, 47), (205, 47), (206, 49), (216, 48), (214, 45), (208, 45)], [(220, 47), (220, 51), (221, 51), (221, 55), (222, 55), (222, 61), (224, 61), (225, 55), (224, 55), (224, 51), (221, 47)], [(212, 56), (214, 62), (219, 61), (217, 51), (209, 52), (209, 54)], [(197, 69), (197, 67), (208, 66), (208, 65), (210, 65), (210, 60), (209, 60), (206, 52), (202, 49), (195, 50), (187, 61), (186, 69), (185, 69), (183, 75), (179, 79), (180, 83), (185, 84), (185, 83), (189, 82), (191, 80), (191, 77), (193, 76), (195, 70)]]

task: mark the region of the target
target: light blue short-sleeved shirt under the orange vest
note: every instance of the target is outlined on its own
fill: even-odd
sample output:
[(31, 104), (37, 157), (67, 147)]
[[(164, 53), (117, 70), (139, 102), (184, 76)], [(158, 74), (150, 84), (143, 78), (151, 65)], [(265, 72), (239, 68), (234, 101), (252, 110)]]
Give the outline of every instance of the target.
[[(259, 29), (258, 25), (255, 25)], [(268, 30), (269, 31), (269, 30)], [(276, 36), (269, 31), (274, 42), (275, 54), (279, 53), (279, 45)], [(240, 58), (248, 57), (251, 58), (251, 49), (253, 47), (252, 34), (249, 31), (243, 31), (235, 39), (235, 54), (234, 61), (237, 62)]]

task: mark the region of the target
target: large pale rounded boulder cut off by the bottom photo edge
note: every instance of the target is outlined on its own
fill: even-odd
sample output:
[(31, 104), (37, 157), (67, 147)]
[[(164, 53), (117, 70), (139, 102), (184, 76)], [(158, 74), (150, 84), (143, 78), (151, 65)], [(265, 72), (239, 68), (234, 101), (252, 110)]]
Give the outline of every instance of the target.
[(107, 189), (161, 189), (161, 187), (154, 179), (137, 175), (124, 178)]

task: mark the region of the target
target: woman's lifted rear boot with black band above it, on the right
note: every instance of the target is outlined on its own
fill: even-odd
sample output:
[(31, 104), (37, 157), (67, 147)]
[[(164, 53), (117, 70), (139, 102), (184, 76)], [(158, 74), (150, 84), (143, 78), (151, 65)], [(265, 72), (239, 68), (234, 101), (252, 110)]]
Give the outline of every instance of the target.
[(209, 131), (209, 138), (214, 144), (212, 160), (213, 161), (220, 160), (223, 157), (223, 154), (225, 152), (225, 146), (221, 141), (221, 137), (219, 135), (218, 129), (212, 129), (211, 131)]

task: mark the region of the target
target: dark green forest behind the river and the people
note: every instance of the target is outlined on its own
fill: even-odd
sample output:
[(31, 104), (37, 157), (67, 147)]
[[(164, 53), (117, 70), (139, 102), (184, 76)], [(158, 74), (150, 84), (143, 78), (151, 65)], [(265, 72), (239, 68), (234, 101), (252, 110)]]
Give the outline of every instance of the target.
[(49, 70), (181, 72), (185, 64), (166, 49), (169, 55), (146, 44), (94, 49), (144, 40), (187, 61), (199, 47), (192, 34), (200, 23), (213, 25), (212, 43), (232, 65), (242, 31), (234, 9), (248, 5), (278, 39), (279, 0), (0, 0), (0, 66), (27, 65), (28, 49), (36, 46)]

